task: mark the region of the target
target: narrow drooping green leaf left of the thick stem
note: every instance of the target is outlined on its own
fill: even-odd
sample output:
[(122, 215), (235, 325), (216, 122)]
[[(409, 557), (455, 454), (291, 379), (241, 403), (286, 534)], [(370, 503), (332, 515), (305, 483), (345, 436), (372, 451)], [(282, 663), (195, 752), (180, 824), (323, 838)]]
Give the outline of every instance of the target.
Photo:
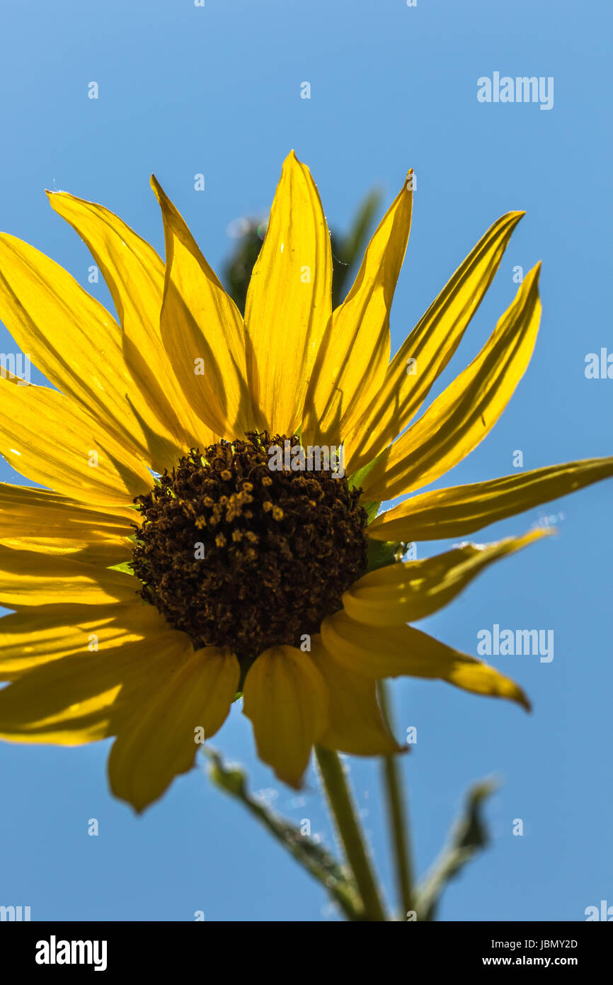
[(203, 747), (211, 760), (209, 776), (216, 786), (240, 800), (247, 810), (269, 831), (277, 841), (326, 887), (337, 901), (347, 919), (360, 920), (359, 897), (352, 881), (337, 860), (321, 845), (309, 840), (290, 821), (284, 821), (247, 791), (247, 777), (240, 766), (225, 765), (213, 749)]

